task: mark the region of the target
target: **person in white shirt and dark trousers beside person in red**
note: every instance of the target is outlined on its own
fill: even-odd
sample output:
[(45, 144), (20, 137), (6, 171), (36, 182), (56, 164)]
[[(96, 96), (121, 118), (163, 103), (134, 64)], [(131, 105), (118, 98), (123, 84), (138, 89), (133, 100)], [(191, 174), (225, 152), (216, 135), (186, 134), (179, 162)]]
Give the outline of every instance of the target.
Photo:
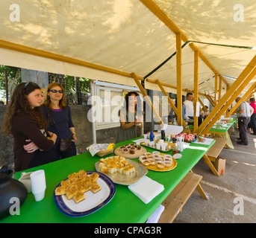
[[(237, 97), (236, 103), (238, 103), (240, 99), (241, 97)], [(240, 137), (237, 138), (237, 144), (244, 146), (248, 145), (247, 126), (250, 122), (250, 117), (253, 112), (254, 109), (252, 106), (250, 106), (249, 103), (246, 103), (245, 101), (243, 101), (240, 106), (237, 107), (238, 129), (240, 135)]]

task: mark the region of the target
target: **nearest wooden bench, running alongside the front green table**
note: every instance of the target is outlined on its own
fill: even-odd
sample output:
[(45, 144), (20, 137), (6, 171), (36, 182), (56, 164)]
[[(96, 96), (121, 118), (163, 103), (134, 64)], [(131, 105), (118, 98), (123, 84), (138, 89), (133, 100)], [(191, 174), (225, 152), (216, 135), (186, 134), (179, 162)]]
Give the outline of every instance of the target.
[(174, 190), (172, 190), (172, 193), (170, 193), (162, 202), (165, 209), (163, 210), (158, 223), (172, 223), (196, 188), (202, 198), (207, 200), (205, 191), (199, 184), (202, 178), (202, 176), (190, 171), (190, 173), (181, 180)]

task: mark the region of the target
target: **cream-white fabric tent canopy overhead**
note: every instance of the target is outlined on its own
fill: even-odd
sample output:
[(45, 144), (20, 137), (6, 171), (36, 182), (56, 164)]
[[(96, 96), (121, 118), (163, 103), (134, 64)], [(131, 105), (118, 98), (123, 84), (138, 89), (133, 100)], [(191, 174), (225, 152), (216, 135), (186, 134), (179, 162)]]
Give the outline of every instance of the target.
[[(187, 40), (196, 41), (196, 47), (229, 86), (234, 83), (230, 77), (237, 78), (255, 57), (256, 51), (251, 49), (256, 46), (255, 1), (240, 1), (238, 8), (234, 0), (153, 3)], [(143, 1), (21, 0), (18, 9), (10, 10), (12, 4), (0, 1), (2, 65), (136, 86), (132, 72), (143, 78), (176, 51), (175, 33)], [(10, 19), (15, 10), (19, 10), (18, 22)], [(187, 40), (182, 39), (184, 44)], [(193, 67), (193, 49), (187, 44), (182, 49), (183, 89), (193, 90)], [(214, 76), (199, 59), (199, 93), (214, 95)], [(149, 79), (176, 86), (175, 55)], [(145, 87), (158, 89), (147, 81)], [(165, 89), (175, 92), (168, 86)], [(222, 94), (225, 91), (222, 83)]]

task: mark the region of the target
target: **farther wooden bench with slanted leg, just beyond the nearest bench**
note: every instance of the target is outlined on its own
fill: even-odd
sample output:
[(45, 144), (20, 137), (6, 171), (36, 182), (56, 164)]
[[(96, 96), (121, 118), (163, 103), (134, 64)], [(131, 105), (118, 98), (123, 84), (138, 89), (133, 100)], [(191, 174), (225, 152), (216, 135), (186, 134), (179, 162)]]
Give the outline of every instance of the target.
[(226, 146), (228, 139), (227, 138), (213, 138), (216, 140), (216, 142), (213, 144), (210, 149), (205, 153), (203, 158), (205, 159), (205, 163), (208, 164), (210, 167), (210, 170), (213, 171), (213, 174), (215, 176), (219, 176), (219, 173), (217, 172), (216, 168), (213, 166), (211, 161), (216, 161), (216, 158), (218, 158), (220, 152), (222, 152), (222, 149)]

